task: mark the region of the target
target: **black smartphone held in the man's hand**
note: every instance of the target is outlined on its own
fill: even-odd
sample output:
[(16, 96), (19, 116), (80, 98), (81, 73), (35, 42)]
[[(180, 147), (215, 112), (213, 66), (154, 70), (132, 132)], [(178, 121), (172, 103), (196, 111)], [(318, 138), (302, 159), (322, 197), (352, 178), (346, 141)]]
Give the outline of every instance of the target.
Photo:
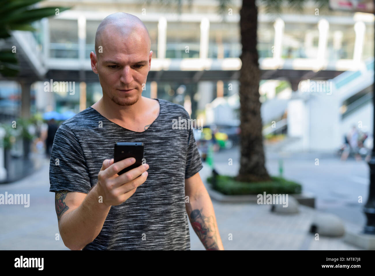
[(135, 163), (130, 165), (127, 168), (124, 168), (122, 171), (118, 172), (117, 174), (123, 174), (124, 172), (130, 171), (130, 169), (134, 169), (142, 165), (143, 159), (143, 143), (129, 143), (129, 142), (117, 142), (115, 143), (114, 147), (114, 154), (113, 159), (114, 163), (121, 161), (123, 159), (134, 157)]

